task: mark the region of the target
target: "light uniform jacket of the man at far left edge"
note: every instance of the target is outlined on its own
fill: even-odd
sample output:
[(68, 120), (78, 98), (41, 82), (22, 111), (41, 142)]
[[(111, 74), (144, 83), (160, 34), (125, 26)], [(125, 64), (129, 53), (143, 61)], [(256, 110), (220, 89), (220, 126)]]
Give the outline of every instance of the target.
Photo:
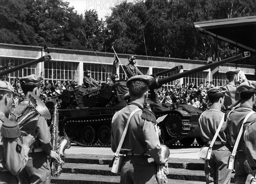
[[(0, 112), (0, 116), (5, 115)], [(3, 122), (0, 120), (0, 128), (2, 125)], [(0, 172), (9, 171), (12, 175), (20, 173), (29, 159), (28, 152), (29, 147), (22, 145), (20, 138), (11, 139), (0, 136)]]

